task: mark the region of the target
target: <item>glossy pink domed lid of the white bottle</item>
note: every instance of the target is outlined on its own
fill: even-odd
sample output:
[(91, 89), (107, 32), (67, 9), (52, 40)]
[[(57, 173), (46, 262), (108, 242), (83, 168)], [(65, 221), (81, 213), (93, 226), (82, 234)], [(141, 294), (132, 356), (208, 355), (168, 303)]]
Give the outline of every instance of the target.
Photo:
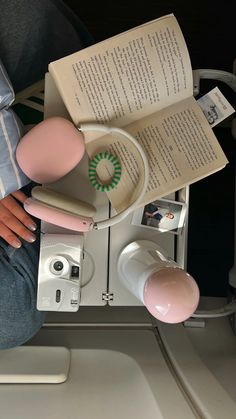
[(154, 272), (144, 286), (143, 299), (148, 311), (165, 323), (188, 319), (199, 303), (195, 280), (180, 268), (163, 268)]

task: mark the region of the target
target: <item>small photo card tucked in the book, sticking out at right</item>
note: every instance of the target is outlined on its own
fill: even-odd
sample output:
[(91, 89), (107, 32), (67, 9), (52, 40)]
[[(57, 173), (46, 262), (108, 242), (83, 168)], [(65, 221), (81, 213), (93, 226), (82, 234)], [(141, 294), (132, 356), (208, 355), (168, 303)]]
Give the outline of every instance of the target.
[(218, 87), (197, 100), (211, 127), (235, 112)]

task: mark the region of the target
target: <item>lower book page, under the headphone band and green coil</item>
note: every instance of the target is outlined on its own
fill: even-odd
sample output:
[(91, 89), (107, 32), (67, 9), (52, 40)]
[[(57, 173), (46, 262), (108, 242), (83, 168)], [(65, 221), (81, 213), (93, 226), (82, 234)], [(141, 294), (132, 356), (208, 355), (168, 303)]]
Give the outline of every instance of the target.
[[(143, 146), (149, 160), (149, 186), (140, 206), (181, 189), (222, 169), (227, 159), (194, 97), (128, 125), (127, 132)], [(124, 136), (106, 135), (86, 146), (93, 157), (109, 150), (120, 160), (121, 180), (107, 192), (117, 212), (127, 208), (138, 196), (143, 182), (142, 159)], [(103, 160), (97, 167), (105, 182), (112, 175)]]

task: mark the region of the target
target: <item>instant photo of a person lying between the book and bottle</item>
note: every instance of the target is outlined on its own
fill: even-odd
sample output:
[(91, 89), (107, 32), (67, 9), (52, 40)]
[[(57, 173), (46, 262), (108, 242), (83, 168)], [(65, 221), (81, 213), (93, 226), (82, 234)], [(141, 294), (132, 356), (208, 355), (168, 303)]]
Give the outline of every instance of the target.
[(159, 232), (180, 234), (185, 221), (186, 204), (158, 199), (134, 211), (131, 224)]

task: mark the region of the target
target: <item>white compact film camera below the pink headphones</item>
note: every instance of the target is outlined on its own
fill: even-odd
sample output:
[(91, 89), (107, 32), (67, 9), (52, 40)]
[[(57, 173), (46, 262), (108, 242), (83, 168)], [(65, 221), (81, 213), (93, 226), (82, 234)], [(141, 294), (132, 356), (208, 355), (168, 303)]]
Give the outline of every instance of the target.
[(78, 311), (82, 260), (83, 235), (41, 234), (38, 310)]

